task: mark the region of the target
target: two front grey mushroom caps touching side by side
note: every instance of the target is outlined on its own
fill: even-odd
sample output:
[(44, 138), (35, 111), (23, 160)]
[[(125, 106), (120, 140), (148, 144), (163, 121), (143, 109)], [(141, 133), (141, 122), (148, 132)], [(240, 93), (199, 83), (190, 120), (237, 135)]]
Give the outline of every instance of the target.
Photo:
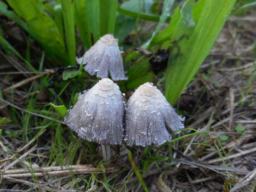
[(160, 146), (171, 140), (170, 131), (184, 128), (164, 95), (152, 83), (145, 83), (127, 102), (119, 87), (101, 79), (68, 110), (64, 122), (86, 141), (101, 145)]

